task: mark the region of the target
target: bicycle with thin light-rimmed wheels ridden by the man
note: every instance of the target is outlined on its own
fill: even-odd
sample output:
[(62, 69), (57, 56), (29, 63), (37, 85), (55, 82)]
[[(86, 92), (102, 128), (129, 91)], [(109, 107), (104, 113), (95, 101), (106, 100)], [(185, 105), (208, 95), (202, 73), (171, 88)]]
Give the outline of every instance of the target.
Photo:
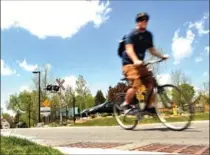
[[(163, 60), (165, 59), (149, 61), (146, 64), (144, 64), (144, 66), (147, 67), (148, 65), (159, 63), (162, 62)], [(149, 75), (141, 77), (141, 80), (144, 80), (144, 78), (148, 76), (153, 76), (153, 74), (150, 72)], [(126, 81), (127, 85), (129, 85), (128, 79), (123, 78), (121, 79), (121, 81)], [(141, 88), (139, 87), (139, 89)], [(145, 97), (145, 91), (141, 90), (136, 93), (131, 103), (132, 107), (127, 112), (124, 112), (124, 110), (120, 108), (120, 104), (123, 103), (126, 93), (125, 92), (118, 93), (113, 103), (113, 113), (118, 124), (126, 130), (133, 130), (138, 125), (138, 122), (141, 121), (145, 115), (152, 115), (156, 116), (164, 126), (174, 131), (185, 130), (191, 125), (194, 113), (192, 109), (193, 105), (191, 101), (188, 101), (186, 99), (186, 96), (177, 86), (174, 86), (172, 84), (159, 85), (156, 78), (154, 77), (153, 93), (155, 94), (156, 98), (159, 97), (157, 99), (159, 99), (160, 101), (155, 104), (155, 109), (156, 109), (155, 115), (147, 113), (146, 111), (144, 111), (145, 107), (144, 108), (141, 107), (142, 105), (145, 105), (145, 101), (147, 100), (147, 97)], [(179, 111), (179, 114), (177, 114), (175, 105), (176, 106), (180, 105), (181, 108), (183, 108), (182, 111), (181, 110)], [(166, 106), (167, 108), (169, 108), (169, 110), (166, 110), (166, 108), (164, 109), (163, 106)], [(119, 113), (118, 111), (120, 110), (123, 112)], [(161, 112), (163, 112), (164, 114), (161, 115)], [(172, 112), (173, 114), (170, 115), (169, 112)], [(188, 115), (186, 115), (187, 112), (189, 112)], [(126, 116), (128, 114), (131, 114), (131, 117), (127, 118), (127, 120), (129, 119), (133, 120), (131, 126), (126, 126), (126, 124), (122, 123), (122, 121), (120, 120), (120, 117), (123, 117), (123, 120), (126, 121)], [(185, 117), (187, 117), (186, 122), (184, 121)], [(176, 123), (170, 123), (171, 121), (174, 121), (173, 119), (175, 118), (177, 118), (178, 120), (181, 119), (181, 122), (178, 122), (179, 124), (178, 127), (174, 126)], [(168, 122), (167, 119), (170, 122)], [(180, 126), (180, 124), (182, 124), (182, 126)]]

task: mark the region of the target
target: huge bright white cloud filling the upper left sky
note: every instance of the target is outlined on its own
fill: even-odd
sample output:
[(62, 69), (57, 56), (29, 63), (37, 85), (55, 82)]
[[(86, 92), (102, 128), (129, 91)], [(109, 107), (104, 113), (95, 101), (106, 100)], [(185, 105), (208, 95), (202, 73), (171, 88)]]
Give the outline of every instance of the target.
[(98, 28), (109, 19), (109, 6), (99, 0), (2, 1), (1, 28), (21, 27), (41, 39), (72, 37), (88, 23)]

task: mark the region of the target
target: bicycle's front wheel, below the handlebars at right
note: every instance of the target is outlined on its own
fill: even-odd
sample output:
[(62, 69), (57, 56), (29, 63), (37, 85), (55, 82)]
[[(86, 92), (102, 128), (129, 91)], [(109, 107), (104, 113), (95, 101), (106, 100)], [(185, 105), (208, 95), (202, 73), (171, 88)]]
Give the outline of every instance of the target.
[(182, 131), (188, 128), (193, 119), (192, 104), (185, 94), (174, 85), (158, 87), (157, 116), (171, 130)]

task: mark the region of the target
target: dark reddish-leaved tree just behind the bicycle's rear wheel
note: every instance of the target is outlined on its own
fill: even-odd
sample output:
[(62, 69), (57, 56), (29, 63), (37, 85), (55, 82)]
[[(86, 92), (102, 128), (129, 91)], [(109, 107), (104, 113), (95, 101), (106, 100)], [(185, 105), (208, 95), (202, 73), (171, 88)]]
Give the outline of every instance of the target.
[(113, 101), (117, 93), (122, 93), (122, 92), (125, 93), (128, 88), (129, 87), (123, 82), (117, 83), (115, 87), (109, 86), (108, 95), (107, 95), (108, 100)]

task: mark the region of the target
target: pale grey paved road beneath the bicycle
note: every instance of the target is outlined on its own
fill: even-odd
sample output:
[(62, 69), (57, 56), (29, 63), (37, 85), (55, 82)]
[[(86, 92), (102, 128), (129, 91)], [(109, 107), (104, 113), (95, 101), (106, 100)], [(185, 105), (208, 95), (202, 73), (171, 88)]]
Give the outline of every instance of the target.
[(120, 149), (132, 149), (151, 143), (209, 145), (209, 121), (193, 122), (185, 131), (166, 129), (162, 124), (139, 125), (134, 131), (114, 127), (57, 127), (1, 130), (41, 140), (51, 146), (68, 146), (75, 142), (117, 142), (130, 143)]

